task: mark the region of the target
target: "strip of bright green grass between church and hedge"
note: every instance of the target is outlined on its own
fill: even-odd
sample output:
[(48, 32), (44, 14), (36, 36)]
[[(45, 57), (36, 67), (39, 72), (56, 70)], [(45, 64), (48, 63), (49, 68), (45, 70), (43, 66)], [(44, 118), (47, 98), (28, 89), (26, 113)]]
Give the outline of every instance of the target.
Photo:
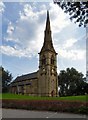
[(66, 96), (66, 97), (37, 97), (27, 95), (17, 95), (11, 93), (0, 94), (0, 99), (22, 99), (22, 100), (76, 100), (76, 101), (88, 101), (88, 95), (81, 96)]

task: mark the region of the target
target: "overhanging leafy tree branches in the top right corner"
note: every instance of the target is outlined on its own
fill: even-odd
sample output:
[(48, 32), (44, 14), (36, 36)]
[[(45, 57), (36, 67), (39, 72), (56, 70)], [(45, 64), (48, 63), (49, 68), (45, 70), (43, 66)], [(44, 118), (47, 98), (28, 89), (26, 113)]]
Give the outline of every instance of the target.
[(75, 23), (86, 27), (88, 24), (88, 1), (87, 2), (63, 2), (63, 0), (54, 0), (65, 13), (69, 13), (70, 19), (75, 19)]

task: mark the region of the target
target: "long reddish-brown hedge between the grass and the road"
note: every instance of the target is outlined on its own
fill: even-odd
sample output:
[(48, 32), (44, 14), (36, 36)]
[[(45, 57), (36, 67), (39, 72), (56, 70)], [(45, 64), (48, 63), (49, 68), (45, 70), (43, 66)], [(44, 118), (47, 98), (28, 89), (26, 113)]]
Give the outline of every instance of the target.
[(88, 114), (88, 102), (59, 100), (2, 100), (3, 108), (48, 110)]

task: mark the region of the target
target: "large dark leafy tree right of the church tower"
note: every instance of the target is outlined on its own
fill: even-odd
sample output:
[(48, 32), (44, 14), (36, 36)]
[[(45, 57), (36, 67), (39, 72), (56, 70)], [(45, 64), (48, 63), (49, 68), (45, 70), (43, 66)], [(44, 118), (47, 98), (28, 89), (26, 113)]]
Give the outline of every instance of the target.
[(60, 71), (58, 76), (59, 95), (72, 96), (88, 94), (88, 83), (84, 75), (74, 68)]

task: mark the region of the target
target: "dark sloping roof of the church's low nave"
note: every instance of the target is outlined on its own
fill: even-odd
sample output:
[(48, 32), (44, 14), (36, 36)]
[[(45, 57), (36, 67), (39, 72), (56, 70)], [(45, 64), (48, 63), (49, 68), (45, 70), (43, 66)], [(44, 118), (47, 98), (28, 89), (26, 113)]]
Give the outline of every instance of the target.
[(37, 78), (37, 73), (38, 72), (34, 72), (34, 73), (18, 76), (12, 83), (21, 82), (21, 81), (30, 80), (30, 79), (32, 79), (32, 80), (36, 79)]

